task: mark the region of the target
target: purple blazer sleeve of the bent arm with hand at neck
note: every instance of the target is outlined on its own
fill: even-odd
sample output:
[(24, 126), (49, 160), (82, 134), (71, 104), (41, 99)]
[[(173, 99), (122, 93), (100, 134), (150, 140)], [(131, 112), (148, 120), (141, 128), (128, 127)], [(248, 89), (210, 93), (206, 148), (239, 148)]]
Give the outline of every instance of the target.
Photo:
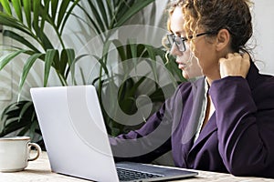
[(218, 149), (231, 174), (268, 177), (274, 173), (274, 81), (252, 89), (240, 76), (210, 87)]

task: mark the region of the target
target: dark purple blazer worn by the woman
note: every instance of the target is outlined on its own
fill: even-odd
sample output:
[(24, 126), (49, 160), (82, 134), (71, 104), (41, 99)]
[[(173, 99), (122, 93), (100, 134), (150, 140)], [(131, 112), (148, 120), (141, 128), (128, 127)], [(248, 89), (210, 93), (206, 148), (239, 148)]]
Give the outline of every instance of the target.
[(151, 162), (172, 150), (176, 167), (274, 177), (274, 76), (251, 63), (246, 79), (214, 81), (216, 111), (194, 142), (204, 85), (204, 78), (181, 84), (142, 128), (110, 138), (115, 160)]

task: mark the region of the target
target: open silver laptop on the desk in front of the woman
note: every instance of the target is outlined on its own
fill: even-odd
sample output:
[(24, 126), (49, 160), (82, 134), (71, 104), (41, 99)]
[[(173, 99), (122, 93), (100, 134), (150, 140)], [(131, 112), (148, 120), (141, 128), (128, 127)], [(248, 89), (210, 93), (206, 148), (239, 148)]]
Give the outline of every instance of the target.
[[(94, 86), (30, 90), (53, 172), (93, 181), (159, 181), (194, 177), (196, 172), (140, 163), (114, 163)], [(129, 173), (141, 170), (142, 177)], [(123, 172), (124, 178), (118, 173)]]

